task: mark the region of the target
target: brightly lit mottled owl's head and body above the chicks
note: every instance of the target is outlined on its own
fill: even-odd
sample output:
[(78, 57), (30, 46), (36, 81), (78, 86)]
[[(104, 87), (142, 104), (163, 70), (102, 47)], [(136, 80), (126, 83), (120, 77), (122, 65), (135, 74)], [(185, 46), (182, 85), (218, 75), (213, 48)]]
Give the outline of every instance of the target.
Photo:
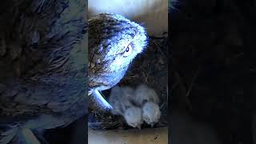
[(146, 48), (147, 38), (142, 26), (118, 14), (98, 14), (88, 22), (91, 93), (115, 86), (134, 57)]

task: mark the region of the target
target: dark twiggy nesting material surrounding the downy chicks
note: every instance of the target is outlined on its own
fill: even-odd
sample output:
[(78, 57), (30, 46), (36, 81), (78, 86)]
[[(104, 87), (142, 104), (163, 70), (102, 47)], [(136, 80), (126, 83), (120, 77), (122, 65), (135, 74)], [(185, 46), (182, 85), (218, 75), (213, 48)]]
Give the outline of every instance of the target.
[[(149, 46), (143, 52), (138, 54), (134, 59), (126, 75), (122, 78), (118, 86), (131, 86), (134, 89), (144, 83), (150, 88), (154, 88), (159, 97), (159, 110), (161, 116), (154, 128), (167, 126), (168, 102), (167, 102), (167, 37), (149, 38)], [(109, 98), (111, 90), (104, 90), (102, 94)], [(88, 127), (93, 130), (127, 130), (132, 129), (126, 124), (125, 119), (119, 115), (103, 114), (98, 111), (90, 110), (88, 118)], [(142, 130), (151, 128), (144, 122), (141, 126)]]

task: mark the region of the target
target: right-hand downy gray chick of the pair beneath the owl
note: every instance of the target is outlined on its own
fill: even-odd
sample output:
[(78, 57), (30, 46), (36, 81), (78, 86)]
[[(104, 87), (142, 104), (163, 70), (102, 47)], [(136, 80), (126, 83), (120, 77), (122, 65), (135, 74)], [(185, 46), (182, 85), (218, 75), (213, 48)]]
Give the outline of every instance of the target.
[(161, 111), (158, 106), (158, 94), (150, 87), (142, 84), (137, 86), (132, 100), (136, 105), (142, 106), (142, 119), (149, 125), (154, 126), (159, 121)]

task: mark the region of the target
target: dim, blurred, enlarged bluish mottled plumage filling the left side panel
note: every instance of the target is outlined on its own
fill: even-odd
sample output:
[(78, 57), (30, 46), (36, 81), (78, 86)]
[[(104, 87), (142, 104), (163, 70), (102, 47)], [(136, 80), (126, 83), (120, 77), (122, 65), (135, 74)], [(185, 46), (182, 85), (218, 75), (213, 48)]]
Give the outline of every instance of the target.
[(3, 1), (0, 143), (86, 114), (86, 1)]

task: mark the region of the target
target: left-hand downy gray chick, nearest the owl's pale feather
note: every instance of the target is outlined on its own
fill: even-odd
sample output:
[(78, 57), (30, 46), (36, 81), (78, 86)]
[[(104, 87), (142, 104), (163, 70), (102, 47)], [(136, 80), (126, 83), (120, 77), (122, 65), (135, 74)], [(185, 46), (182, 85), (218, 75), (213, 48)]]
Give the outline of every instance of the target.
[(134, 106), (130, 98), (134, 95), (134, 90), (128, 86), (115, 86), (111, 89), (109, 102), (113, 107), (112, 114), (122, 115), (129, 126), (141, 129), (142, 110), (138, 106)]

